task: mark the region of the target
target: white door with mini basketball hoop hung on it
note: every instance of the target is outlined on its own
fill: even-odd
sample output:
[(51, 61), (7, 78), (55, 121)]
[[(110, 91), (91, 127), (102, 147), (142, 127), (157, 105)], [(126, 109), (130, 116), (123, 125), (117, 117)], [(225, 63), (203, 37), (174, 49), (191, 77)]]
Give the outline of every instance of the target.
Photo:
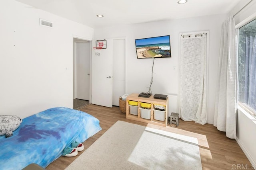
[(112, 40), (106, 42), (107, 48), (101, 49), (100, 55), (92, 49), (92, 104), (112, 107)]

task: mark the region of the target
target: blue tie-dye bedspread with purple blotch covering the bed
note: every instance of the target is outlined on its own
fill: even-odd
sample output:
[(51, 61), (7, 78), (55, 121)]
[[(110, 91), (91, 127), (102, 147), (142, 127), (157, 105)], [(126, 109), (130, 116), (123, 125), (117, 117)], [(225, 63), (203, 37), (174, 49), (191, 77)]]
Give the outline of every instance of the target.
[(92, 115), (65, 107), (31, 115), (22, 119), (12, 137), (0, 136), (0, 169), (22, 169), (31, 163), (45, 168), (73, 141), (82, 143), (101, 129)]

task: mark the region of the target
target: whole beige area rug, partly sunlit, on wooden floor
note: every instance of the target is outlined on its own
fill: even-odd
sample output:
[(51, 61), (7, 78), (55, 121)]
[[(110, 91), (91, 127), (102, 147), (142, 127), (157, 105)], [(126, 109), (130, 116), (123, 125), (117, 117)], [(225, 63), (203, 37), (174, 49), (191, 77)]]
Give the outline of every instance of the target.
[(196, 138), (117, 121), (66, 170), (201, 170)]

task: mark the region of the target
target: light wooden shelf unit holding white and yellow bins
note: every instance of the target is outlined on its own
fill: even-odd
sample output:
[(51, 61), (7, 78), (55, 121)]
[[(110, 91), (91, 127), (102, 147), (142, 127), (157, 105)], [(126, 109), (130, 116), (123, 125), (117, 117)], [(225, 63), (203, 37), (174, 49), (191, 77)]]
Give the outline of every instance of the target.
[[(138, 97), (139, 94), (132, 93), (126, 98), (126, 119), (141, 121), (145, 123), (151, 123), (154, 125), (159, 126), (167, 126), (167, 113), (168, 113), (168, 98), (166, 100), (162, 99), (155, 99), (153, 96), (150, 96), (150, 98), (142, 98)], [(130, 107), (128, 105), (128, 100), (136, 101), (138, 102), (138, 115), (132, 115), (130, 114)], [(140, 102), (144, 103), (150, 103), (151, 104), (151, 119), (144, 119), (140, 117)], [(165, 120), (159, 121), (154, 119), (154, 104), (164, 105), (165, 106)]]

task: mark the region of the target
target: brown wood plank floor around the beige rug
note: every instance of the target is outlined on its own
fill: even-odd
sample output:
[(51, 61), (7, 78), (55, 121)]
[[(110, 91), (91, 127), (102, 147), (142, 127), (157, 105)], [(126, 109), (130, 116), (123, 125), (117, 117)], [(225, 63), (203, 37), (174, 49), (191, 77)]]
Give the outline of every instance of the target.
[[(172, 133), (196, 137), (199, 143), (203, 170), (234, 170), (239, 169), (239, 167), (241, 168), (242, 165), (248, 169), (253, 168), (236, 140), (227, 138), (224, 132), (218, 131), (216, 127), (211, 124), (200, 125), (193, 121), (182, 121), (180, 119), (178, 127), (160, 127), (157, 125), (128, 120), (126, 119), (125, 114), (120, 111), (119, 107), (109, 108), (89, 104), (80, 110), (98, 118), (100, 120), (100, 126), (102, 127), (102, 131), (98, 132), (93, 137), (90, 137), (83, 143), (84, 150), (90, 147), (90, 145), (116, 123), (116, 121), (120, 120), (170, 131)], [(82, 154), (82, 152), (84, 151), (78, 152), (78, 156)], [(78, 156), (69, 158), (61, 156), (47, 166), (46, 169), (64, 170)]]

